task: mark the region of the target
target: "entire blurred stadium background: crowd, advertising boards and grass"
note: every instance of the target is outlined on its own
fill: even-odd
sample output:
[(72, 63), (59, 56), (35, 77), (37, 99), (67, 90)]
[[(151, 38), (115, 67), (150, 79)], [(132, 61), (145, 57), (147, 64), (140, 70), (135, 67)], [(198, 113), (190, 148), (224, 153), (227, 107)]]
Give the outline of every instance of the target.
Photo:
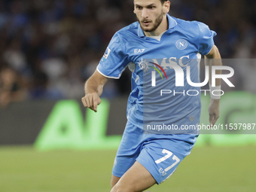
[[(223, 58), (254, 61), (256, 2), (171, 2), (172, 16), (199, 20), (218, 33), (215, 44)], [(135, 20), (130, 0), (0, 2), (1, 191), (110, 190), (130, 72), (106, 84), (100, 118), (84, 110), (80, 99), (111, 36)], [(233, 100), (222, 104), (240, 110), (246, 121), (256, 117), (256, 64), (239, 64), (232, 66), (236, 87), (224, 87)], [(235, 135), (223, 142), (227, 137), (220, 136), (205, 137), (172, 178), (151, 191), (254, 191), (255, 137)]]

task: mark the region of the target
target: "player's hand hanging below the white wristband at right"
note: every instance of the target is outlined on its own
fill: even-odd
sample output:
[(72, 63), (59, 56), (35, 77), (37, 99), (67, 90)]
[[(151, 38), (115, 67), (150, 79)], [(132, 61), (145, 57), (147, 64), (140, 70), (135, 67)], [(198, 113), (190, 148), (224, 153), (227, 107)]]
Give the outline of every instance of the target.
[(211, 99), (208, 111), (210, 125), (214, 126), (220, 117), (220, 99)]

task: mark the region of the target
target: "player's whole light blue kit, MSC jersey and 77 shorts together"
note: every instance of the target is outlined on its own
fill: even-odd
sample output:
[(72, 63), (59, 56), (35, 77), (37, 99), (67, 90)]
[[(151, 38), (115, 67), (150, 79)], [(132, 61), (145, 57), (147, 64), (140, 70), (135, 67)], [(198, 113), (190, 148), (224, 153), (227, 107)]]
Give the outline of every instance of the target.
[(160, 184), (197, 141), (197, 129), (182, 126), (199, 123), (200, 87), (193, 83), (200, 83), (201, 54), (212, 49), (215, 32), (197, 21), (167, 18), (169, 29), (158, 37), (146, 37), (138, 22), (120, 29), (97, 67), (107, 78), (120, 78), (127, 66), (133, 72), (128, 121), (112, 171), (117, 177), (138, 161)]

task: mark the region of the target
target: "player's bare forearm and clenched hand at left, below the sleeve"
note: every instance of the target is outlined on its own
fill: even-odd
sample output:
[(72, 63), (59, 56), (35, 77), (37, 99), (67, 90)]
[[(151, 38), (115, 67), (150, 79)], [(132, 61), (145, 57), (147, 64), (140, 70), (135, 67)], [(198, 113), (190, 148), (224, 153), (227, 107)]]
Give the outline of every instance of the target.
[(84, 84), (85, 96), (82, 98), (84, 107), (97, 111), (97, 106), (102, 102), (99, 96), (102, 95), (103, 87), (108, 81), (97, 70)]

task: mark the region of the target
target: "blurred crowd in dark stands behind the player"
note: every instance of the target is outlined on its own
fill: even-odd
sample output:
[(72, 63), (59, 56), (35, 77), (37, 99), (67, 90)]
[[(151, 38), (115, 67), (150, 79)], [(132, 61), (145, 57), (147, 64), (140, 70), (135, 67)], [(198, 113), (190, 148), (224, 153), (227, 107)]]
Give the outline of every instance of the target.
[[(223, 58), (256, 57), (254, 0), (171, 3), (170, 15), (199, 20), (218, 33), (215, 44)], [(84, 81), (96, 69), (114, 32), (134, 21), (133, 0), (0, 1), (0, 105), (80, 99)], [(255, 63), (249, 66), (245, 76), (256, 70)], [(236, 81), (239, 87), (245, 84)], [(246, 89), (253, 90), (254, 84)], [(128, 93), (130, 72), (125, 71), (120, 80), (108, 81), (103, 96)]]

